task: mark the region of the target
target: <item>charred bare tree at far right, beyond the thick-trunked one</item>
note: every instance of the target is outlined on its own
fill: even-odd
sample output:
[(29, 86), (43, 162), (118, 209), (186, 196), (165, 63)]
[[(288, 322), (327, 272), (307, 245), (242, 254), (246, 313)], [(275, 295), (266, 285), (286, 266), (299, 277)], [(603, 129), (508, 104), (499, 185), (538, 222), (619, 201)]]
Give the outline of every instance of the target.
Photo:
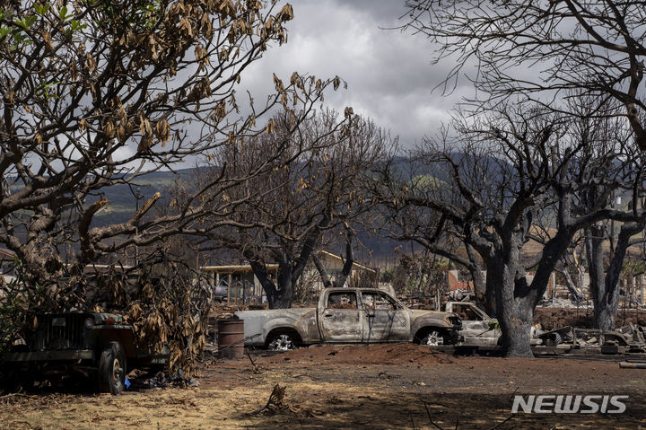
[[(584, 97), (582, 100), (589, 101)], [(615, 222), (612, 219), (598, 220), (576, 234), (576, 243), (583, 242), (590, 275), (590, 291), (594, 304), (594, 325), (599, 329), (615, 329), (615, 318), (619, 302), (619, 278), (623, 271), (624, 257), (631, 246), (642, 241), (634, 237), (646, 225), (643, 210), (644, 192), (643, 157), (631, 145), (631, 130), (618, 118), (610, 115), (596, 117), (586, 115), (587, 107), (576, 108), (572, 112), (577, 117), (570, 122), (570, 134), (583, 146), (573, 157), (568, 175), (573, 183), (572, 212), (578, 216), (593, 214), (599, 209), (612, 209), (615, 215), (621, 213), (625, 222), (620, 225), (620, 233), (615, 241)], [(614, 109), (615, 103), (607, 103)], [(589, 112), (591, 113), (591, 112)], [(615, 198), (624, 201), (617, 205)], [(547, 220), (544, 226), (548, 226)], [(537, 223), (538, 225), (538, 223)], [(551, 238), (549, 228), (543, 228), (542, 237), (534, 236), (536, 241), (546, 243)], [(604, 243), (610, 244), (610, 255)], [(569, 254), (569, 255), (568, 255)], [(570, 260), (573, 264), (567, 264)], [(608, 264), (606, 264), (606, 260)], [(570, 277), (568, 266), (581, 269), (581, 256), (566, 252), (562, 256), (563, 275), (575, 299), (581, 296)]]

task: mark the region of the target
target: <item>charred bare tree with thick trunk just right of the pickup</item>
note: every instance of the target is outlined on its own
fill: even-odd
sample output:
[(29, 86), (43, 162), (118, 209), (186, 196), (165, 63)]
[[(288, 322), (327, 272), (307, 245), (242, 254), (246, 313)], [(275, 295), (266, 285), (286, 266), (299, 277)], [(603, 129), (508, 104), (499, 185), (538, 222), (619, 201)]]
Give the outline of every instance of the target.
[[(410, 180), (390, 183), (381, 202), (394, 210), (414, 206), (425, 212), (416, 219), (430, 223), (422, 227), (426, 232), (435, 232), (433, 252), (464, 261), (456, 247), (444, 246), (451, 238), (476, 250), (487, 270), (486, 284), (495, 291), (507, 355), (530, 356), (534, 308), (574, 235), (605, 219), (628, 222), (638, 217), (607, 206), (578, 212), (577, 193), (590, 182), (577, 180), (577, 157), (589, 142), (572, 132), (567, 117), (517, 105), (458, 121), (455, 127), (457, 136), (429, 141), (418, 154), (430, 166), (432, 185), (429, 180), (423, 187)], [(382, 172), (375, 189), (383, 190), (379, 183), (389, 178), (388, 171)], [(523, 248), (536, 236), (539, 215), (552, 218), (554, 233), (542, 252), (527, 259)], [(411, 237), (416, 225), (408, 227)], [(536, 272), (531, 280), (526, 276), (529, 268)]]

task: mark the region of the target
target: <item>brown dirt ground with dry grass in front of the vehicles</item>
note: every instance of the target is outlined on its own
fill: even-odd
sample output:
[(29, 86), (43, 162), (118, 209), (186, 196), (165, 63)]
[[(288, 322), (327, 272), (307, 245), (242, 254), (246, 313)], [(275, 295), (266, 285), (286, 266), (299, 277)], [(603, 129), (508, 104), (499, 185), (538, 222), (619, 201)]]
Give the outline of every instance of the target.
[[(572, 359), (456, 357), (390, 344), (216, 360), (197, 388), (0, 397), (11, 429), (646, 429), (646, 370)], [(250, 415), (275, 387), (289, 408)], [(511, 415), (514, 394), (624, 394), (626, 411)], [(506, 421), (505, 421), (506, 420)]]

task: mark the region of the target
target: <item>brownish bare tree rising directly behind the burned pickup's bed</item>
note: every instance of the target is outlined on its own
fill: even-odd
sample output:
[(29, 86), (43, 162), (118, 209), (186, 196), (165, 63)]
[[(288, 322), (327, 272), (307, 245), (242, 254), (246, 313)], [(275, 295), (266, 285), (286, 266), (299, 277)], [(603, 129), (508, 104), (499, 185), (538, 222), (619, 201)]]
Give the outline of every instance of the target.
[[(227, 192), (227, 198), (240, 202), (226, 214), (238, 224), (206, 237), (212, 246), (240, 252), (269, 306), (287, 308), (321, 234), (362, 212), (358, 178), (380, 157), (388, 136), (350, 109), (343, 119), (326, 110), (302, 122), (284, 112), (273, 123), (266, 134), (244, 141), (242, 150), (231, 147), (215, 161), (229, 163), (231, 178), (246, 176), (259, 164), (268, 162), (270, 168)], [(281, 155), (267, 161), (267, 154), (276, 152)], [(266, 264), (273, 262), (279, 265), (277, 283), (266, 273)]]

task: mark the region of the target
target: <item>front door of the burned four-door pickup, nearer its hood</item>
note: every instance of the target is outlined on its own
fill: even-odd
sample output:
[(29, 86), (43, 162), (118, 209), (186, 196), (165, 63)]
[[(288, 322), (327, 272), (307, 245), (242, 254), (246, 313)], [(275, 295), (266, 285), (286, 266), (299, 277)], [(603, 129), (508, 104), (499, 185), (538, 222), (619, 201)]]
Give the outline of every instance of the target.
[(408, 312), (388, 294), (362, 291), (363, 341), (407, 341), (410, 338)]

